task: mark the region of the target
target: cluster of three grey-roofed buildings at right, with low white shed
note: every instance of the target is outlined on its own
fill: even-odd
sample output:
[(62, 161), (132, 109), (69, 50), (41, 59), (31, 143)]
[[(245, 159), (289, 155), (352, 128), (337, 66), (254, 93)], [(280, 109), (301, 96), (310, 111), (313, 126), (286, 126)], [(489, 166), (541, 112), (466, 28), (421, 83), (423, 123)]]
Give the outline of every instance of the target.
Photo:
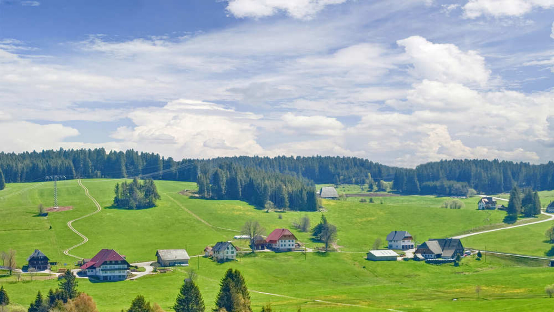
[(415, 249), (414, 259), (456, 259), (464, 254), (464, 246), (456, 238), (434, 238), (421, 245), (414, 243), (412, 234), (407, 231), (392, 231), (387, 235), (387, 247), (384, 250), (370, 250), (367, 259), (373, 261), (397, 260), (398, 254), (394, 250)]

